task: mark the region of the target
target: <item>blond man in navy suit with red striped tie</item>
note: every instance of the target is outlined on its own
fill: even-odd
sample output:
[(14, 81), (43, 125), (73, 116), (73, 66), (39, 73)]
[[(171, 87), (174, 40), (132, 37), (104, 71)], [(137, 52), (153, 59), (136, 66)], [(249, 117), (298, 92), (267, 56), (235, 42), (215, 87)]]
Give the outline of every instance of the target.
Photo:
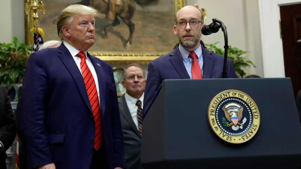
[(98, 11), (70, 5), (57, 18), (58, 48), (31, 54), (20, 126), (30, 167), (121, 169), (123, 136), (111, 66), (90, 55)]

